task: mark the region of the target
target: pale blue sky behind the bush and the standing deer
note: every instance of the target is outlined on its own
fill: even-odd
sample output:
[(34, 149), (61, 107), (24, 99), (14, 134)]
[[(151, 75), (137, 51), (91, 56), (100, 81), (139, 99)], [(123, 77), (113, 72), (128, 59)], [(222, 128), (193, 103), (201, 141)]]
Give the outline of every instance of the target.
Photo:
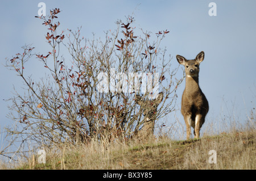
[[(48, 45), (44, 35), (46, 28), (39, 19), (39, 2), (46, 3), (46, 12), (60, 8), (59, 21), (63, 30), (75, 30), (82, 26), (81, 34), (91, 38), (104, 38), (104, 31), (114, 30), (115, 21), (125, 20), (125, 16), (135, 18), (134, 26), (152, 33), (169, 30), (162, 47), (173, 56), (172, 66), (179, 64), (176, 54), (192, 59), (202, 50), (205, 60), (200, 65), (200, 87), (207, 96), (210, 111), (208, 120), (216, 120), (220, 115), (234, 112), (241, 121), (255, 107), (256, 82), (256, 1), (1, 1), (0, 2), (0, 129), (13, 123), (6, 118), (9, 112), (3, 99), (8, 99), (13, 91), (22, 86), (19, 77), (5, 68), (5, 58), (21, 52), (25, 44), (36, 47), (35, 52), (45, 53)], [(217, 5), (217, 16), (209, 16), (210, 2)], [(40, 67), (31, 61), (27, 69), (38, 76)], [(182, 76), (179, 71), (178, 77)], [(185, 82), (179, 88), (177, 109)], [(228, 108), (225, 108), (226, 106)], [(180, 111), (176, 116), (183, 124)], [(170, 115), (168, 121), (175, 119)]]

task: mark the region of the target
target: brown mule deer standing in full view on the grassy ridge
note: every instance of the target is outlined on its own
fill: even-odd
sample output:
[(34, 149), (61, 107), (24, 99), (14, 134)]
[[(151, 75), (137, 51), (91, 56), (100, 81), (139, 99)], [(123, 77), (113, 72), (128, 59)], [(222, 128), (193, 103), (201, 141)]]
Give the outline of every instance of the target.
[(207, 98), (199, 87), (199, 64), (204, 60), (204, 52), (197, 54), (194, 60), (187, 60), (179, 55), (176, 58), (185, 66), (186, 85), (181, 99), (181, 113), (187, 127), (187, 140), (191, 127), (194, 128), (196, 138), (199, 138), (200, 128), (209, 110)]

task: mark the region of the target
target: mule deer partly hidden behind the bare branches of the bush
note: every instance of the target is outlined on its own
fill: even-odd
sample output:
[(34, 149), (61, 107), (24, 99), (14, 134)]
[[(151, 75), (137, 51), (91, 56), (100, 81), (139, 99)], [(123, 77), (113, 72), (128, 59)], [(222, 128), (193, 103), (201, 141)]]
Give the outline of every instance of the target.
[(141, 136), (144, 137), (154, 134), (156, 112), (158, 109), (158, 105), (162, 102), (162, 100), (163, 92), (160, 92), (153, 100), (143, 100), (140, 95), (136, 95), (135, 102), (139, 104), (141, 108), (144, 110), (144, 119), (142, 121), (143, 127), (141, 131), (139, 131), (141, 132)]

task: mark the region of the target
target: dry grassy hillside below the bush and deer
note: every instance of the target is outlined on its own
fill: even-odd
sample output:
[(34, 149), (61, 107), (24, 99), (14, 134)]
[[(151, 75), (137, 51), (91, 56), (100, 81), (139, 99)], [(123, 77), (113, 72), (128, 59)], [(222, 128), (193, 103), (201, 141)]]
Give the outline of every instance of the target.
[[(255, 129), (221, 133), (199, 140), (147, 141), (63, 145), (46, 150), (46, 164), (32, 155), (17, 169), (256, 169)], [(209, 163), (210, 150), (217, 163)]]

